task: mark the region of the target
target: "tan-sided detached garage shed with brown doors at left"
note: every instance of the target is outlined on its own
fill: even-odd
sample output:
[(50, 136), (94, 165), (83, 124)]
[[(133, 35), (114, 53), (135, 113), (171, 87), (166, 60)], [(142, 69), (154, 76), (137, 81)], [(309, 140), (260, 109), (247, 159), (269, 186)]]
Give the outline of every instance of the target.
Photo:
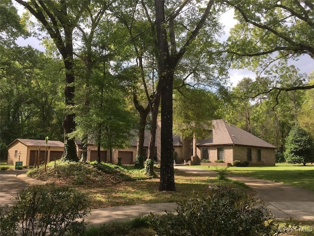
[[(17, 161), (23, 161), (23, 166), (33, 166), (36, 156), (40, 163), (44, 163), (46, 141), (36, 139), (16, 139), (8, 146), (8, 165), (15, 165)], [(60, 141), (48, 140), (47, 161), (60, 159), (64, 150), (64, 144)]]

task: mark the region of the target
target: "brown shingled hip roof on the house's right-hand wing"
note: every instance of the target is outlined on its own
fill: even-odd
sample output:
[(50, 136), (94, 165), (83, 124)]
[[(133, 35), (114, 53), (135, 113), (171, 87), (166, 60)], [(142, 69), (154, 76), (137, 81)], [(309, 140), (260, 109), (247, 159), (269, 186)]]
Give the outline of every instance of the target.
[(212, 125), (212, 136), (209, 139), (199, 140), (197, 145), (241, 145), (261, 148), (276, 148), (255, 135), (240, 129), (233, 124), (229, 124), (223, 119), (213, 120)]

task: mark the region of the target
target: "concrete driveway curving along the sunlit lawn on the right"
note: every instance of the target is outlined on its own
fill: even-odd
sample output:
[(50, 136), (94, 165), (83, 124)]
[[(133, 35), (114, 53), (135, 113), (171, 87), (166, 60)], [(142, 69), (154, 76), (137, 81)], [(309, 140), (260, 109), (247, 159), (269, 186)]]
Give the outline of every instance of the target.
[[(175, 166), (175, 168), (195, 175), (217, 176), (217, 172), (214, 171), (186, 166)], [(235, 175), (228, 177), (243, 182), (257, 191), (256, 199), (267, 202), (267, 208), (277, 219), (314, 220), (314, 191), (257, 178)]]

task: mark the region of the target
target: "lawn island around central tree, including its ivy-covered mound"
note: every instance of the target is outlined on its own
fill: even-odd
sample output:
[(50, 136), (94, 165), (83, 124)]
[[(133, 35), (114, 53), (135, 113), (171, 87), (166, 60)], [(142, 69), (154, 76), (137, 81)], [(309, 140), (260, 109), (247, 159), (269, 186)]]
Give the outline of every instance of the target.
[(178, 170), (175, 170), (177, 192), (159, 192), (158, 169), (156, 174), (156, 177), (148, 177), (144, 169), (136, 170), (132, 166), (61, 161), (57, 161), (56, 174), (53, 163), (48, 164), (47, 172), (43, 167), (27, 172), (29, 177), (68, 185), (84, 192), (91, 200), (91, 208), (180, 202), (183, 199), (206, 196), (210, 184), (227, 185), (256, 194), (240, 182), (194, 176)]

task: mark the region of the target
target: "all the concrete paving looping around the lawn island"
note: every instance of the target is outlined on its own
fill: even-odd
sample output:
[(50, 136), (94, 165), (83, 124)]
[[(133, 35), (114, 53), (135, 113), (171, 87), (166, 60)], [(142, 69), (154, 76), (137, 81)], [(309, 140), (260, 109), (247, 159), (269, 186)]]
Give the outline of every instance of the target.
[[(189, 172), (195, 175), (215, 177), (216, 172), (207, 171), (192, 167), (176, 166), (176, 169)], [(16, 178), (17, 174), (19, 175)], [(1, 171), (0, 172), (0, 204), (12, 204), (10, 198), (16, 196), (16, 192), (27, 187), (30, 181), (32, 184), (40, 184), (23, 175), (23, 171)], [(314, 191), (301, 189), (281, 183), (274, 183), (267, 180), (228, 176), (232, 179), (244, 182), (258, 192), (256, 198), (267, 202), (268, 209), (277, 219), (286, 220), (314, 220)], [(22, 179), (21, 179), (22, 178)], [(147, 215), (150, 212), (162, 214), (167, 211), (174, 211), (176, 203), (141, 204), (135, 206), (110, 207), (91, 210), (91, 214), (85, 218), (89, 224), (102, 224), (114, 220), (126, 220), (136, 216)]]

